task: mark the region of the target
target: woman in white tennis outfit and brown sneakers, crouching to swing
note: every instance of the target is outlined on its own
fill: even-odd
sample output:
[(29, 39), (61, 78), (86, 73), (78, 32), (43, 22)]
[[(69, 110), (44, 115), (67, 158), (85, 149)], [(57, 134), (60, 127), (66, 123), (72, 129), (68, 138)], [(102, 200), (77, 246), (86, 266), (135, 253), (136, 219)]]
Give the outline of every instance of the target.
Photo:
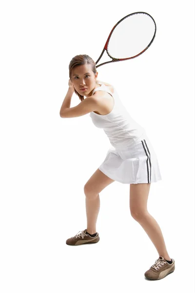
[[(72, 118), (90, 113), (92, 122), (103, 128), (112, 147), (84, 186), (87, 229), (67, 239), (66, 244), (97, 243), (99, 193), (114, 181), (130, 184), (131, 215), (146, 231), (159, 254), (144, 275), (149, 279), (161, 279), (174, 272), (175, 260), (170, 258), (160, 227), (147, 210), (150, 185), (161, 180), (156, 153), (144, 128), (131, 118), (120, 102), (116, 89), (97, 80), (96, 64), (88, 55), (77, 55), (71, 60), (69, 77), (69, 89), (60, 117)], [(70, 108), (74, 91), (81, 103)]]

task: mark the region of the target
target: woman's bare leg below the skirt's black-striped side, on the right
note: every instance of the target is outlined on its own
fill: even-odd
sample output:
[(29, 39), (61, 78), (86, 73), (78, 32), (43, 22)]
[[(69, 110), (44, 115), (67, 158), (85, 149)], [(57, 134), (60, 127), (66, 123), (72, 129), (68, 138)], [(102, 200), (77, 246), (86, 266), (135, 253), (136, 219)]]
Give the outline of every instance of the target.
[(158, 254), (164, 259), (171, 258), (167, 252), (164, 238), (156, 220), (147, 210), (150, 183), (130, 185), (130, 210), (132, 217), (142, 226), (153, 242)]

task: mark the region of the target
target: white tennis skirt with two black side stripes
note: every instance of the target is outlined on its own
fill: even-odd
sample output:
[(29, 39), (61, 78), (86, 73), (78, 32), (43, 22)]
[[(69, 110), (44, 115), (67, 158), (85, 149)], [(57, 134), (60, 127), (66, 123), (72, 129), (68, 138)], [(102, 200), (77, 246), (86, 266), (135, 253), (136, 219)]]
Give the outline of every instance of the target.
[(131, 147), (122, 150), (109, 148), (99, 170), (124, 184), (153, 183), (162, 180), (156, 153), (145, 134)]

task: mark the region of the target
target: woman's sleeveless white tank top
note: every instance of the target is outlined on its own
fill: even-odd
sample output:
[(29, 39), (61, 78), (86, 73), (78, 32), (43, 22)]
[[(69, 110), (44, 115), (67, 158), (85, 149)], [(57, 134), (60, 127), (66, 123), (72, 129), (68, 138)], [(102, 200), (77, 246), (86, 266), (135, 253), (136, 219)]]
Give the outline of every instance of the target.
[(114, 107), (109, 114), (100, 115), (90, 112), (93, 124), (98, 128), (103, 128), (108, 136), (110, 143), (116, 149), (125, 149), (134, 145), (135, 142), (141, 141), (145, 135), (145, 129), (140, 126), (128, 113), (125, 106), (121, 103), (117, 91), (114, 93), (109, 90), (109, 86), (101, 84), (93, 90), (92, 95), (97, 91), (106, 91), (114, 99)]

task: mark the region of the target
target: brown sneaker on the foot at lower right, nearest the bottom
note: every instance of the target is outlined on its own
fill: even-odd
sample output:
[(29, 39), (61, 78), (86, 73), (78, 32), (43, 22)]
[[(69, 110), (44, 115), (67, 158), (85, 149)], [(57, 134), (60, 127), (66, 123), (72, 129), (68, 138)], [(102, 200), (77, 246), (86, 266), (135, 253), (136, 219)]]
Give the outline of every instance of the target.
[(150, 280), (159, 280), (166, 277), (169, 273), (175, 271), (175, 260), (171, 258), (172, 264), (169, 264), (162, 256), (156, 260), (155, 264), (144, 273), (144, 276)]

